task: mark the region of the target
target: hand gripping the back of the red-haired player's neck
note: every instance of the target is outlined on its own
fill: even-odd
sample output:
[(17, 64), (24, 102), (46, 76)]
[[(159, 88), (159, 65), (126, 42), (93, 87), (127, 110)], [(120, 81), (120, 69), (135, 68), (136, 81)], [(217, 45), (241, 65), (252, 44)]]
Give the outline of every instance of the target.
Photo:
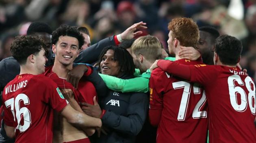
[(178, 52), (178, 55), (181, 59), (189, 59), (191, 61), (197, 60), (201, 54), (193, 47), (185, 47), (180, 46), (180, 51)]

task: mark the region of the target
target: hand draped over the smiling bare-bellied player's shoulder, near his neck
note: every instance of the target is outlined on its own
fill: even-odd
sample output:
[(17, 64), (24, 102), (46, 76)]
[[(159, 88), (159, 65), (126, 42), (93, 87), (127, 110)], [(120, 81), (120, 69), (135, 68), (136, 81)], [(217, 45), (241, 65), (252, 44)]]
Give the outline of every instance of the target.
[(79, 80), (87, 70), (88, 68), (86, 65), (77, 65), (67, 74), (67, 82), (70, 82), (75, 88), (77, 88)]

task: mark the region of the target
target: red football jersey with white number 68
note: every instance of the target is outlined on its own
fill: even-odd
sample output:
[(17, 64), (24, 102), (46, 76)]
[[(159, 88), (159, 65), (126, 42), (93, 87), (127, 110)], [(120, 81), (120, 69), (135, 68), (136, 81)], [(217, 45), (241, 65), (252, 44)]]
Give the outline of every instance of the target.
[(256, 143), (255, 85), (237, 68), (192, 66), (191, 81), (200, 82), (209, 105), (210, 143)]

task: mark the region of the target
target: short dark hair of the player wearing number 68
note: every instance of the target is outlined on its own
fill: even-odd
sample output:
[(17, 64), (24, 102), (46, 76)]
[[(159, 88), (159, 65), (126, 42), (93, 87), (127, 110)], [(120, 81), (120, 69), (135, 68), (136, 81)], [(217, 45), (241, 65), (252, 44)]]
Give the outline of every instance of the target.
[(241, 41), (233, 36), (221, 35), (215, 42), (215, 52), (221, 63), (225, 65), (236, 65), (239, 62), (242, 49)]

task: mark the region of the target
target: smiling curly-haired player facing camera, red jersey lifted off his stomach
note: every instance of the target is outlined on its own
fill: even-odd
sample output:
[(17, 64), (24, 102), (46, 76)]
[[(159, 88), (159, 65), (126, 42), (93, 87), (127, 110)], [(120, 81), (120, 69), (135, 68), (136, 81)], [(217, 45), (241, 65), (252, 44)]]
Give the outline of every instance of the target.
[[(44, 73), (45, 76), (51, 78), (59, 86), (64, 95), (70, 96), (67, 100), (72, 107), (82, 113), (83, 111), (79, 107), (78, 102), (93, 104), (93, 97), (97, 95), (95, 87), (91, 82), (82, 78), (78, 88), (75, 89), (66, 79), (69, 71), (73, 69), (73, 62), (78, 57), (83, 43), (84, 37), (78, 32), (76, 27), (68, 25), (58, 27), (52, 33), (52, 51), (56, 54), (54, 65), (47, 67)], [(90, 67), (87, 69), (89, 69), (87, 72), (91, 72)], [(56, 116), (56, 120), (57, 122), (54, 122), (54, 126), (58, 127), (54, 128), (54, 141), (56, 142), (89, 143), (88, 136), (95, 132), (94, 128), (86, 130), (76, 128), (69, 124), (65, 118), (62, 120), (62, 117)]]

